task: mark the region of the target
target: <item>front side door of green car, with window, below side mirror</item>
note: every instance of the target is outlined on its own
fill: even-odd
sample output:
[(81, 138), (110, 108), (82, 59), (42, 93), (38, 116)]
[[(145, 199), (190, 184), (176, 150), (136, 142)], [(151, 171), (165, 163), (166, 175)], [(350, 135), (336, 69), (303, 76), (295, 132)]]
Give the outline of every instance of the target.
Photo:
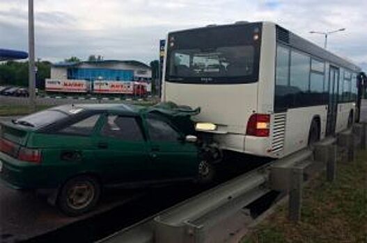
[(194, 178), (198, 173), (198, 148), (185, 142), (169, 121), (157, 115), (146, 117), (149, 158), (152, 173), (158, 179)]

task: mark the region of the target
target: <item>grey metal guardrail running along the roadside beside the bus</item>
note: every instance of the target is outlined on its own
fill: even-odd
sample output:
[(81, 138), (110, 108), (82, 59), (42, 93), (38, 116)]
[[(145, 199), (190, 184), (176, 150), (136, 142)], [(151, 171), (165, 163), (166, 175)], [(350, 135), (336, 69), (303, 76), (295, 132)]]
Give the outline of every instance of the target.
[(312, 150), (274, 160), (100, 242), (237, 242), (243, 235), (240, 232), (254, 221), (244, 208), (271, 190), (289, 194), (289, 219), (299, 221), (305, 176), (326, 169), (327, 180), (334, 181), (337, 151), (346, 151), (347, 161), (352, 161), (357, 147), (366, 149), (366, 128), (366, 124), (355, 124)]

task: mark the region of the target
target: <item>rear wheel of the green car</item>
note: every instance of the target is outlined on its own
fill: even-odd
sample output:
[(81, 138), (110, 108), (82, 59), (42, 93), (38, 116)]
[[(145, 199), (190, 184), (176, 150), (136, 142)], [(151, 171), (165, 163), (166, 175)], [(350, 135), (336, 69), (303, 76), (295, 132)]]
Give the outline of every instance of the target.
[(68, 216), (92, 210), (100, 199), (100, 183), (92, 176), (77, 176), (66, 181), (58, 194), (57, 205)]

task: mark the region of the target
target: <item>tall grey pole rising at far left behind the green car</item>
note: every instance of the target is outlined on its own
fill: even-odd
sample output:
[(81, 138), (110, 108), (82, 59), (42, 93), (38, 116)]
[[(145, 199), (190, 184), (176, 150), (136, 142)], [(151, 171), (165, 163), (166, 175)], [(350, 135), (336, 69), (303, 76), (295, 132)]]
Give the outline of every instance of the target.
[(29, 51), (29, 106), (36, 110), (36, 72), (34, 65), (34, 16), (33, 0), (28, 0), (28, 51)]

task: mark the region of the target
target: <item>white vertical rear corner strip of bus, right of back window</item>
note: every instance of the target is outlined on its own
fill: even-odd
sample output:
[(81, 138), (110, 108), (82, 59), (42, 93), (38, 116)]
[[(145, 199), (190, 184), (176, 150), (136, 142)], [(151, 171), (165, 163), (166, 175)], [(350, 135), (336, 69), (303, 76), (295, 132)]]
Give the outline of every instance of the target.
[(262, 35), (258, 82), (258, 113), (267, 114), (274, 111), (276, 56), (275, 24), (264, 22)]

